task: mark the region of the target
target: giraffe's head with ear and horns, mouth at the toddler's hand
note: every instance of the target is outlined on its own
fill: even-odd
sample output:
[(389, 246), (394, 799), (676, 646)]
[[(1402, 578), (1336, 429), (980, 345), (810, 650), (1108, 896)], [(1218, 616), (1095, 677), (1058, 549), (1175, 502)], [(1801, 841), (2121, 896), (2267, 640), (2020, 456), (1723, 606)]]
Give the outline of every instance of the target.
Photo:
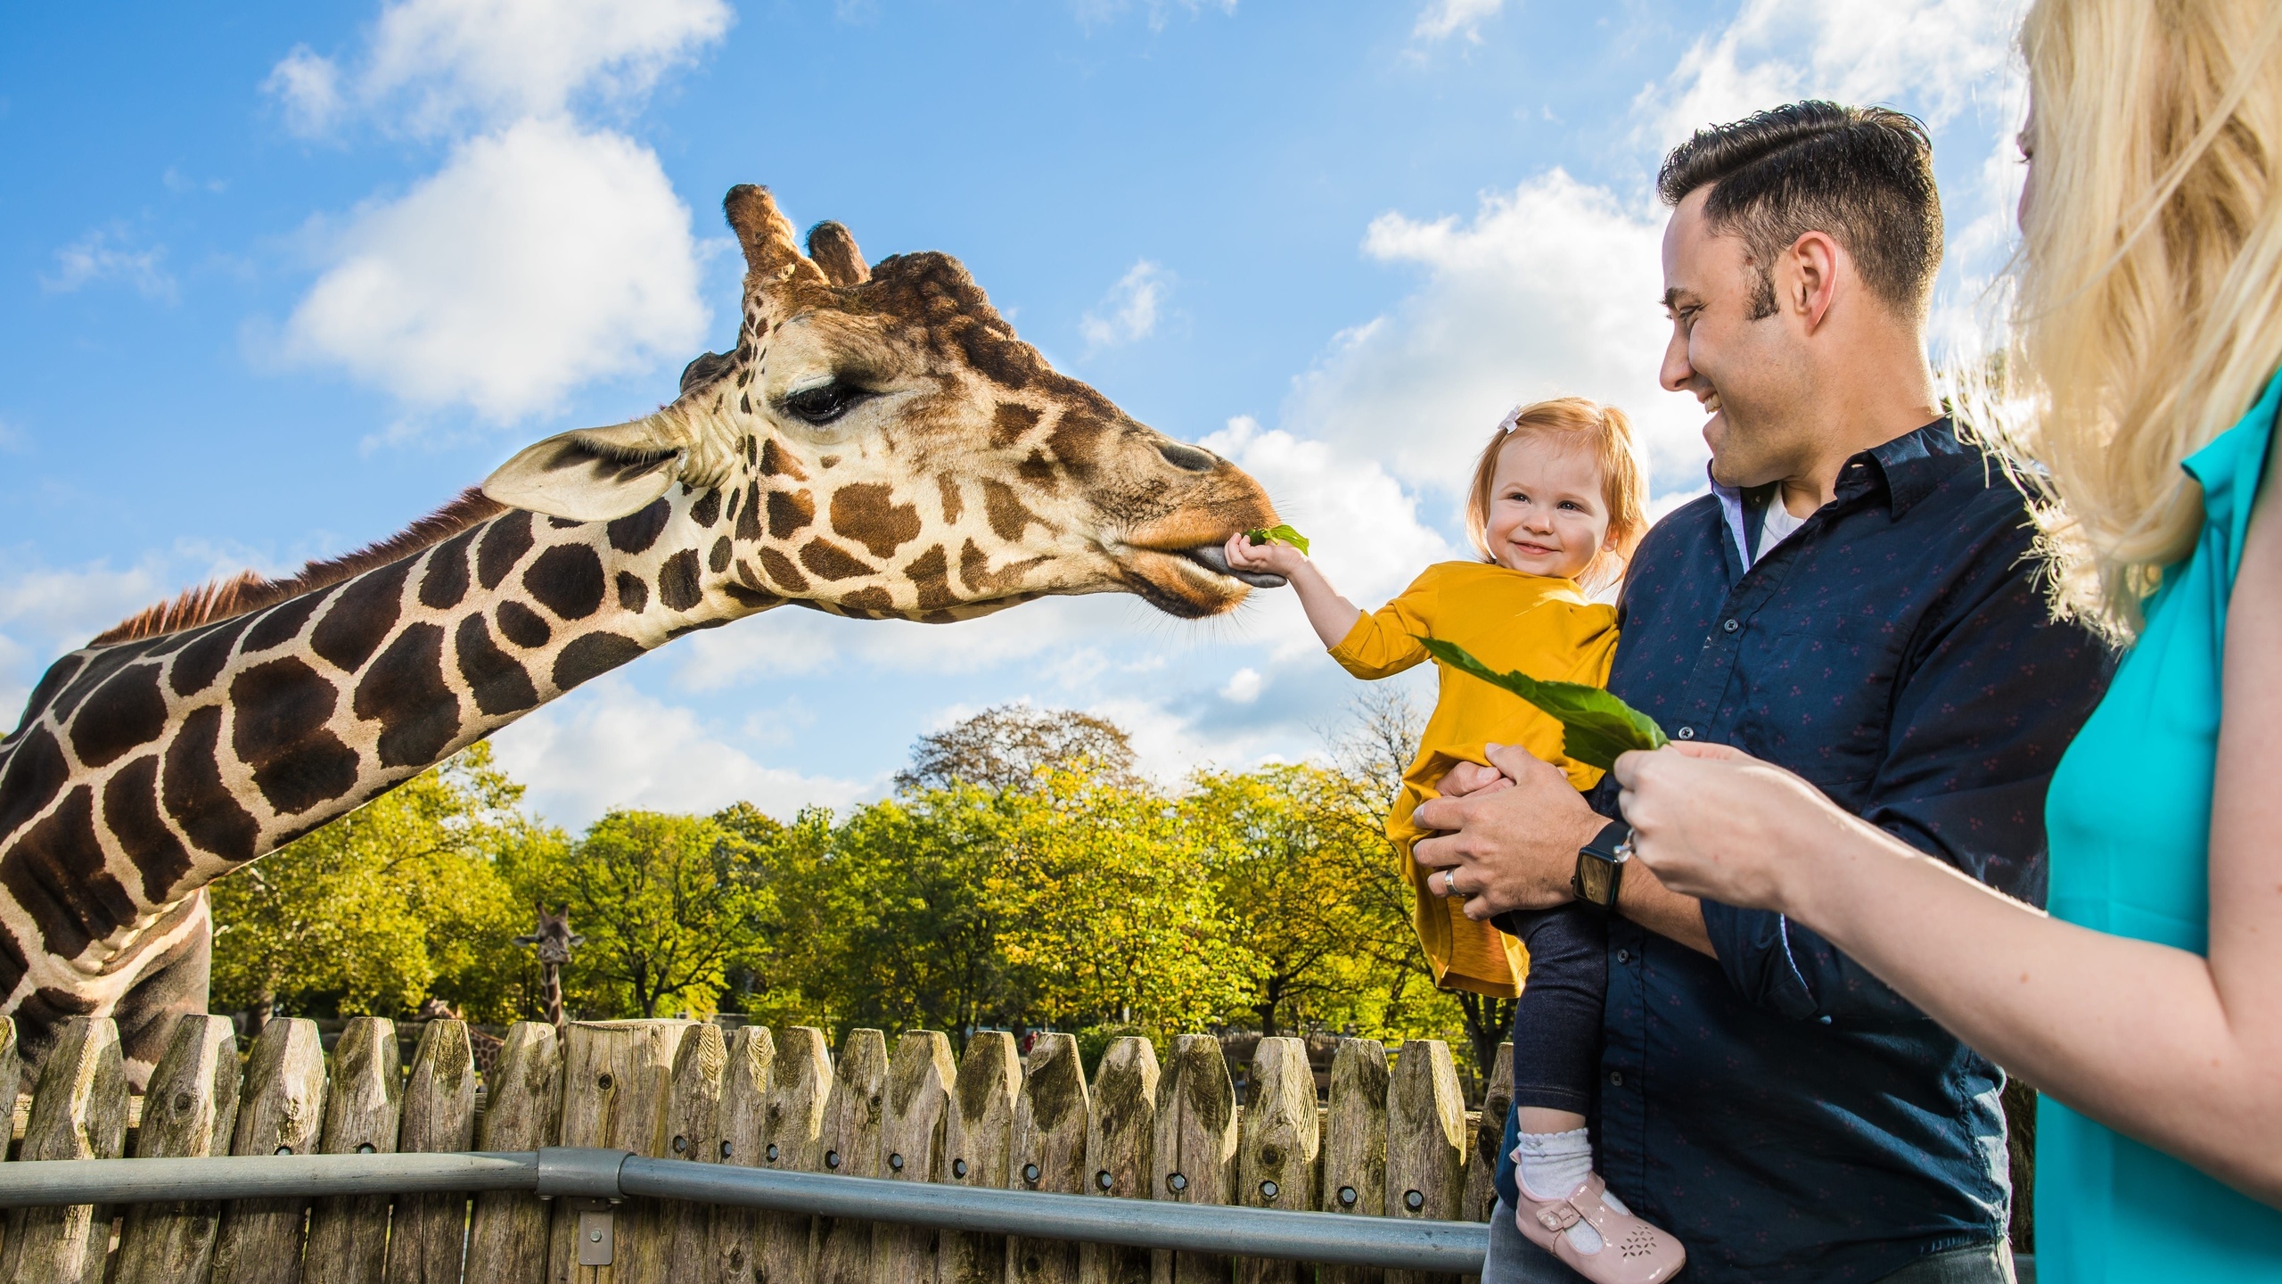
[(1205, 617), (1280, 583), (1219, 551), (1276, 523), (1260, 484), (1054, 372), (956, 258), (867, 267), (840, 224), (801, 254), (767, 190), (726, 208), (746, 258), (735, 352), (691, 361), (657, 414), (523, 450), (491, 498), (614, 521), (680, 484), (733, 532), (712, 580), (746, 608), (947, 621), (1134, 592)]

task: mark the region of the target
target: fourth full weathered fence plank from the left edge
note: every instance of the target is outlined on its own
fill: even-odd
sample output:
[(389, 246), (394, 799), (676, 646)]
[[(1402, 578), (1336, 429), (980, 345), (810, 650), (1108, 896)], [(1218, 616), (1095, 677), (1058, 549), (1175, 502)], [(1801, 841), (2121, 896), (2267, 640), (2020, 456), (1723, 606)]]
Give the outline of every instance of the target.
[[(356, 1017), (333, 1044), (324, 1154), (395, 1154), (404, 1104), (397, 1024)], [(333, 1195), (308, 1211), (310, 1284), (379, 1284), (388, 1266), (388, 1195)]]

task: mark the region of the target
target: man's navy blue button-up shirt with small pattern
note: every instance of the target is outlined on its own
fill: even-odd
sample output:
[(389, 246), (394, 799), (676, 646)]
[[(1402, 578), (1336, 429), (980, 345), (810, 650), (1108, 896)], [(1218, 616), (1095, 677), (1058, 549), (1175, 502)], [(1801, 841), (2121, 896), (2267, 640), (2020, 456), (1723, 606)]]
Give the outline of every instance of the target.
[[(1609, 690), (2042, 905), (2045, 784), (2113, 663), (2049, 619), (2020, 493), (1937, 420), (1759, 551), (1769, 498), (1648, 532)], [(1616, 781), (1591, 800), (1616, 816)], [(1686, 1243), (1686, 1279), (1876, 1279), (2001, 1238), (2004, 1074), (1798, 923), (1702, 914), (1716, 962), (1611, 921), (1595, 1120), (1602, 1177)]]

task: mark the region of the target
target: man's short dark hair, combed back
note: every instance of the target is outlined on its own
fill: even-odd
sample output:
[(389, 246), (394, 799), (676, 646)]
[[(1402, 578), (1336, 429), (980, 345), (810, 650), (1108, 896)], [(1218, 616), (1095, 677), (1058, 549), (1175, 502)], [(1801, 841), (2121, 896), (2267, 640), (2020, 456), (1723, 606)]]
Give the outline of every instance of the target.
[(1844, 244), (1896, 313), (1926, 313), (1942, 267), (1942, 194), (1915, 117), (1807, 101), (1696, 130), (1664, 158), (1657, 194), (1677, 206), (1705, 185), (1712, 231), (1743, 238), (1759, 267), (1753, 320), (1775, 315), (1773, 263), (1810, 231)]

